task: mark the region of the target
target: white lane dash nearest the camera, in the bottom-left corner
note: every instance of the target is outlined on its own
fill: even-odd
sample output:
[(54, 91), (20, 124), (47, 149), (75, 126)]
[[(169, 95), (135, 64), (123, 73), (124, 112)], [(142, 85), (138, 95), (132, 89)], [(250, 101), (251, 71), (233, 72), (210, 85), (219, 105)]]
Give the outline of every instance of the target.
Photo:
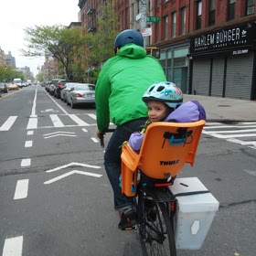
[(21, 256), (23, 246), (23, 236), (5, 239), (2, 256)]

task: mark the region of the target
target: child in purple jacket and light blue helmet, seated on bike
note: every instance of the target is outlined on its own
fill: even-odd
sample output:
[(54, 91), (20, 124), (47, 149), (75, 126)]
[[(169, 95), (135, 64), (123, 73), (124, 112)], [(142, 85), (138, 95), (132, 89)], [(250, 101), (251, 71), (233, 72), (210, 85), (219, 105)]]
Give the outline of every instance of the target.
[(144, 132), (150, 123), (191, 123), (206, 120), (206, 112), (198, 101), (183, 103), (182, 91), (169, 81), (156, 82), (144, 92), (143, 101), (148, 108), (148, 120), (140, 132), (131, 134), (129, 144), (138, 152), (144, 139)]

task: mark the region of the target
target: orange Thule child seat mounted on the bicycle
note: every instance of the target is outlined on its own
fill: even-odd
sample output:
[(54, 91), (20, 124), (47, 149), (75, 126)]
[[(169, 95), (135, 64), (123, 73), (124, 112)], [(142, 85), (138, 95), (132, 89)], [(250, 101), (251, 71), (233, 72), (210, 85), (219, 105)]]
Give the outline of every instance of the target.
[(144, 133), (139, 154), (129, 144), (123, 144), (123, 193), (134, 196), (130, 187), (136, 185), (138, 169), (146, 176), (165, 179), (176, 176), (186, 163), (194, 165), (205, 123), (203, 120), (193, 123), (151, 123)]

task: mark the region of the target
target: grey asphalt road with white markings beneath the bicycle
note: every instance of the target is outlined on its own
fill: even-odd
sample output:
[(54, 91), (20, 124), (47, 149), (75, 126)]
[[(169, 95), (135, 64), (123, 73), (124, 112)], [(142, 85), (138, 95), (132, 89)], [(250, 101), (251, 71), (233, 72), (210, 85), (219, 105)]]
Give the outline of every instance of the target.
[[(0, 110), (0, 255), (141, 255), (137, 230), (117, 228), (95, 109), (31, 86), (2, 97)], [(178, 256), (255, 255), (255, 157), (202, 135), (196, 164), (179, 176), (197, 176), (220, 208), (203, 247)]]

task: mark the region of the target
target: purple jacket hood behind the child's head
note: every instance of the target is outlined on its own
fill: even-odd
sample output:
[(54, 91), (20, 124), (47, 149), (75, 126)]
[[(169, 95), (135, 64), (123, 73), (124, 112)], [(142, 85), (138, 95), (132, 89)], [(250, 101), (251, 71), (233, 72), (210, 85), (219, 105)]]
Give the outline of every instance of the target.
[(165, 122), (191, 123), (206, 118), (205, 109), (198, 101), (188, 101), (171, 112)]

